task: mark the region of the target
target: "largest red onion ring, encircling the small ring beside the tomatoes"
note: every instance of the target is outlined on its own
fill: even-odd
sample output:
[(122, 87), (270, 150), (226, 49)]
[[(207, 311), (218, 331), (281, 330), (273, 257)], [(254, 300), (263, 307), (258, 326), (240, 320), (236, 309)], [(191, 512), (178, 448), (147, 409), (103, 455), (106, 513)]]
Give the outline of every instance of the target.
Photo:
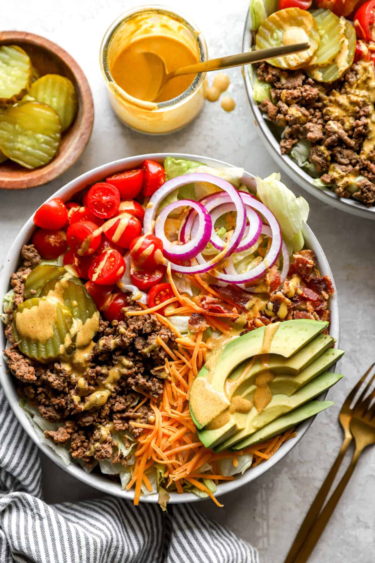
[[(236, 228), (233, 231), (231, 239), (227, 243), (227, 248), (223, 249), (217, 256), (214, 256), (209, 262), (206, 262), (202, 257), (202, 263), (198, 263), (194, 266), (182, 266), (171, 262), (172, 270), (180, 272), (182, 274), (200, 274), (211, 270), (217, 262), (223, 260), (226, 256), (230, 256), (232, 252), (237, 248), (238, 243), (242, 240), (243, 233), (246, 227), (246, 210), (245, 204), (243, 203), (242, 196), (236, 190), (232, 184), (229, 184), (223, 178), (217, 176), (212, 176), (210, 174), (204, 173), (192, 173), (186, 176), (178, 176), (177, 178), (171, 178), (163, 184), (155, 194), (151, 196), (150, 202), (147, 205), (146, 212), (144, 213), (143, 219), (143, 229), (144, 233), (152, 233), (153, 224), (157, 214), (157, 208), (159, 207), (161, 201), (171, 193), (171, 191), (177, 189), (178, 187), (184, 186), (186, 184), (191, 184), (192, 182), (207, 182), (217, 186), (219, 189), (226, 192), (231, 198), (232, 202), (236, 206), (237, 211), (237, 221)], [(184, 240), (186, 240), (186, 233), (184, 234)], [(198, 254), (201, 256), (201, 254)]]

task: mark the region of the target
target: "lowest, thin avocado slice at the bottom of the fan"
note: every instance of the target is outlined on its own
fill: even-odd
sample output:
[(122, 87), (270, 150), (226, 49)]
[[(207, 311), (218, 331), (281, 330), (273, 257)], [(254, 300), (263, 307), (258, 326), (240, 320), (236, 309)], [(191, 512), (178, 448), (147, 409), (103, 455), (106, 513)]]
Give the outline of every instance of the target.
[(281, 417), (277, 418), (273, 422), (264, 426), (260, 430), (257, 430), (249, 436), (238, 442), (233, 446), (234, 450), (241, 450), (257, 444), (258, 442), (263, 442), (264, 440), (269, 440), (282, 432), (296, 426), (300, 422), (304, 421), (306, 418), (313, 417), (315, 414), (320, 413), (324, 409), (328, 409), (329, 406), (334, 405), (333, 401), (309, 401), (308, 403), (299, 406), (299, 408), (292, 410), (290, 413), (283, 414)]

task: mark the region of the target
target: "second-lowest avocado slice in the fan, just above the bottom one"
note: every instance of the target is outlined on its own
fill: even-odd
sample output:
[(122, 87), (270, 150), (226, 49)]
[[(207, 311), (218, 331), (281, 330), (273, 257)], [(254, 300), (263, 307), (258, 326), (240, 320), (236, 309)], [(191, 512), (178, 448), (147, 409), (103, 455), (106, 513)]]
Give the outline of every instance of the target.
[(313, 381), (307, 383), (304, 387), (296, 391), (292, 396), (280, 394), (274, 395), (270, 403), (265, 409), (258, 413), (255, 406), (252, 407), (249, 413), (235, 413), (233, 418), (237, 422), (238, 432), (233, 434), (229, 439), (223, 441), (216, 449), (216, 452), (221, 452), (227, 448), (232, 448), (234, 444), (245, 440), (251, 434), (254, 434), (260, 428), (268, 425), (282, 414), (290, 412), (307, 403), (310, 399), (314, 399), (323, 391), (326, 391), (332, 385), (335, 385), (342, 377), (341, 374), (325, 372), (320, 376), (315, 377)]

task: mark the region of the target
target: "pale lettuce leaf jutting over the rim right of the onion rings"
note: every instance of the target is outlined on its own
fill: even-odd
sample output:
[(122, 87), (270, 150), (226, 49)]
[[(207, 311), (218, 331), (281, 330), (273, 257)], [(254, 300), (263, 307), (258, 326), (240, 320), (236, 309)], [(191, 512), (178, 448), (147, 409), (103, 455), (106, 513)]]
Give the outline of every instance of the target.
[[(290, 252), (300, 251), (303, 247), (301, 229), (309, 217), (308, 202), (302, 196), (296, 198), (293, 192), (280, 181), (280, 175), (276, 172), (264, 180), (257, 177), (256, 189), (261, 202), (277, 218)], [(298, 237), (294, 238), (295, 235)]]

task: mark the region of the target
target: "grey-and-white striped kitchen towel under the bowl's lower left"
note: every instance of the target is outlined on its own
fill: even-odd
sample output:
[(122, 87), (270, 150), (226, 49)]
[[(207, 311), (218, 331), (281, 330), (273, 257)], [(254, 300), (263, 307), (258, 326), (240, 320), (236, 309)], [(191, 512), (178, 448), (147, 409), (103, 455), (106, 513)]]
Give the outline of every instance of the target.
[(257, 552), (189, 504), (116, 497), (49, 506), (37, 446), (0, 388), (0, 563), (259, 563)]

